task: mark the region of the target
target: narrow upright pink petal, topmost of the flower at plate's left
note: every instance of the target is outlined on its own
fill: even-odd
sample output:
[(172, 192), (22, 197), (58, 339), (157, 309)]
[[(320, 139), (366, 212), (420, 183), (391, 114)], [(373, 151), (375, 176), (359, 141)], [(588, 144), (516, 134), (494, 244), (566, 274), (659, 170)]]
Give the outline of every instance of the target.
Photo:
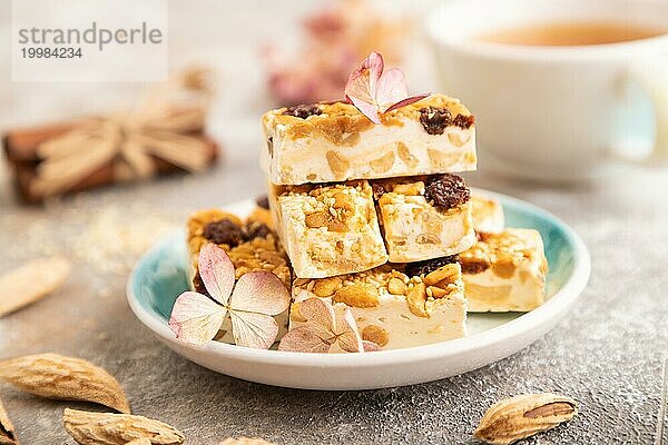
[(199, 250), (199, 276), (212, 298), (227, 306), (234, 287), (234, 265), (220, 247), (215, 244), (205, 245)]

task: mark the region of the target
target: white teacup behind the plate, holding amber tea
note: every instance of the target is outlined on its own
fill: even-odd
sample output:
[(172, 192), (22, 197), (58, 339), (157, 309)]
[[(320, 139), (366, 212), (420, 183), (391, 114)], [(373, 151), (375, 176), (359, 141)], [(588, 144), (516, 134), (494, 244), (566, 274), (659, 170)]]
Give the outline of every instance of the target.
[[(558, 22), (659, 30), (596, 46), (519, 46), (475, 37)], [(429, 19), (444, 91), (477, 118), (480, 159), (514, 176), (570, 180), (620, 159), (668, 154), (668, 1), (454, 0)]]

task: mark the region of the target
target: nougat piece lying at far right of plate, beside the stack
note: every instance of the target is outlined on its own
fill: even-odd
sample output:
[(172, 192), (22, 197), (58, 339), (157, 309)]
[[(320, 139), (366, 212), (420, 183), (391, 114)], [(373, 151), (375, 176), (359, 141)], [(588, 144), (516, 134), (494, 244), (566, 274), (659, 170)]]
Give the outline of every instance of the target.
[(540, 234), (509, 228), (479, 238), (460, 254), (469, 312), (528, 312), (542, 305), (548, 260)]

